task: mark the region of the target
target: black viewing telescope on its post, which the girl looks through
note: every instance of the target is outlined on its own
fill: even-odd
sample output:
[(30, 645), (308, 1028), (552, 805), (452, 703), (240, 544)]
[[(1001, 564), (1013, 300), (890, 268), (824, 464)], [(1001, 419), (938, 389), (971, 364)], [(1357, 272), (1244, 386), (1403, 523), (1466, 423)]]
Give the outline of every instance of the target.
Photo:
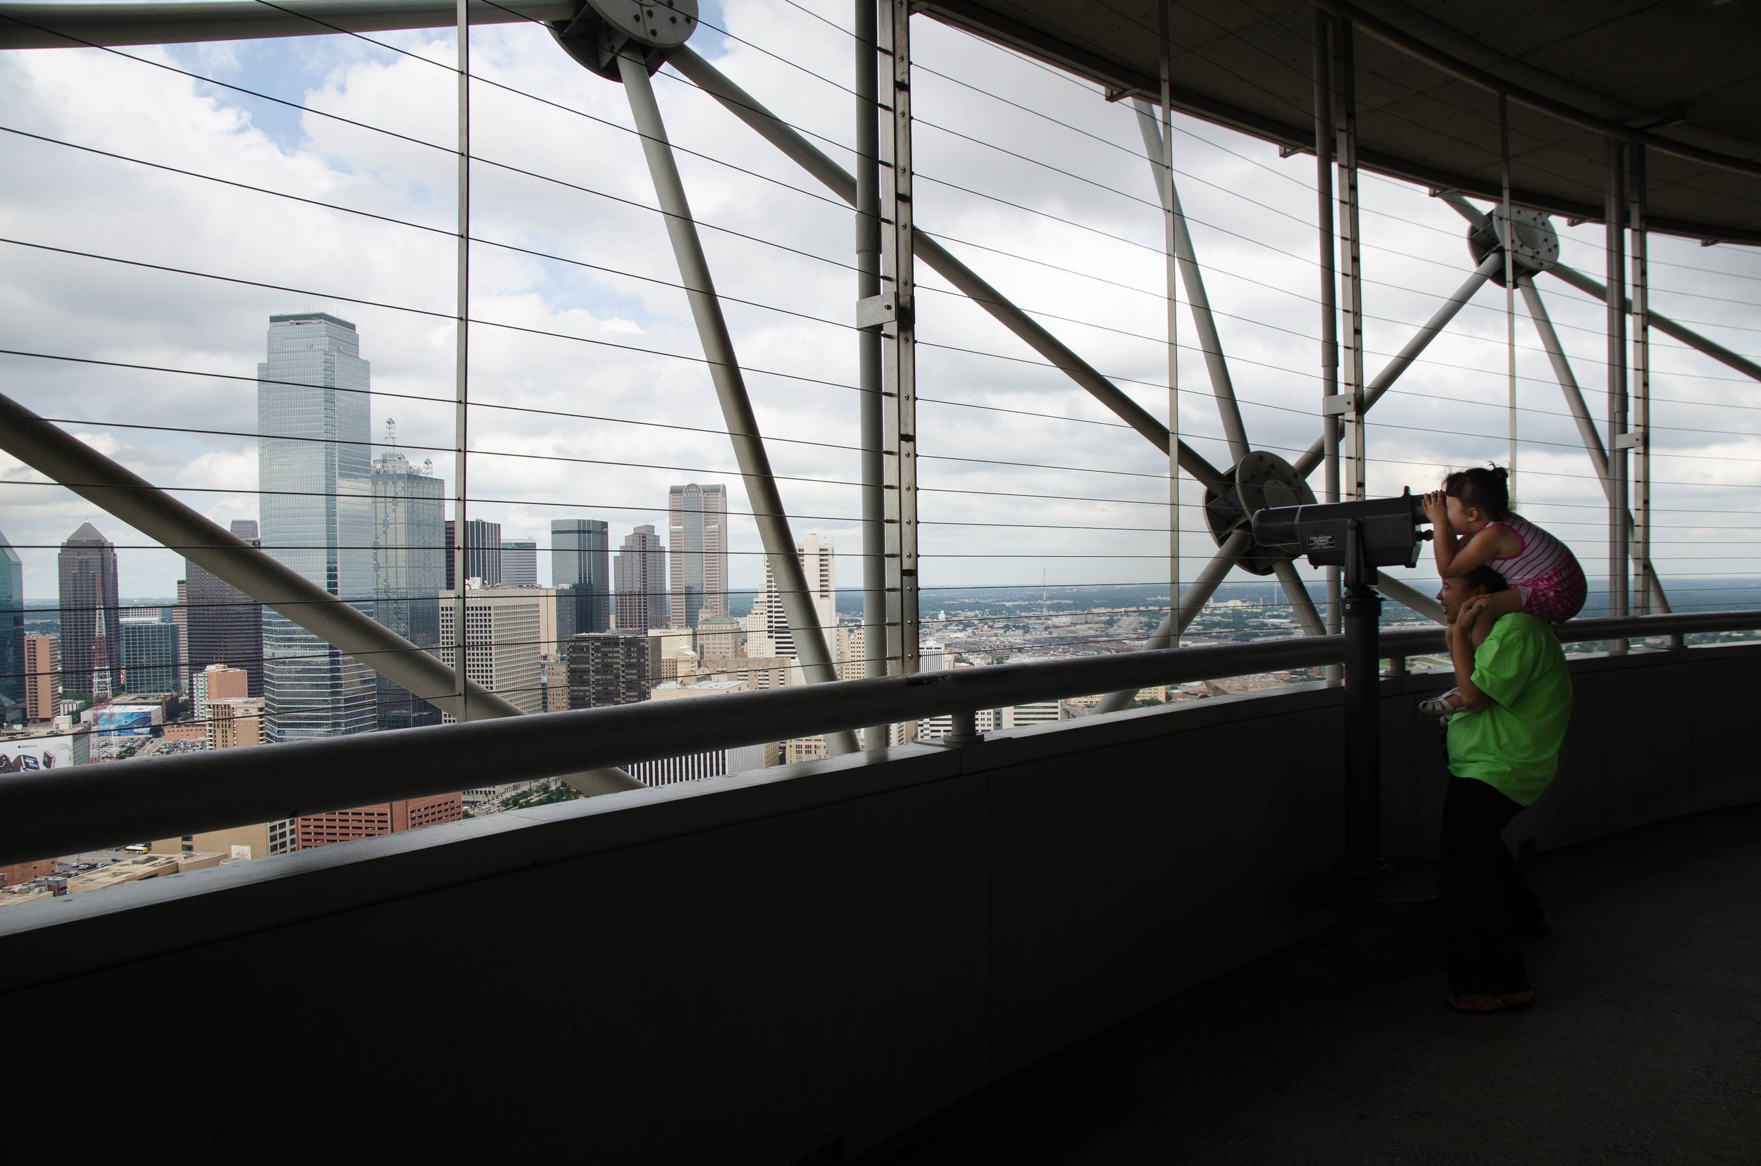
[(1377, 699), (1377, 629), (1382, 597), (1375, 594), (1377, 567), (1414, 567), (1419, 544), (1432, 537), (1423, 527), (1423, 498), (1280, 506), (1254, 514), (1254, 539), (1291, 555), (1307, 555), (1314, 567), (1344, 567), (1345, 624), (1345, 858), (1338, 874), (1372, 879), (1388, 874), (1381, 851), (1381, 715)]

